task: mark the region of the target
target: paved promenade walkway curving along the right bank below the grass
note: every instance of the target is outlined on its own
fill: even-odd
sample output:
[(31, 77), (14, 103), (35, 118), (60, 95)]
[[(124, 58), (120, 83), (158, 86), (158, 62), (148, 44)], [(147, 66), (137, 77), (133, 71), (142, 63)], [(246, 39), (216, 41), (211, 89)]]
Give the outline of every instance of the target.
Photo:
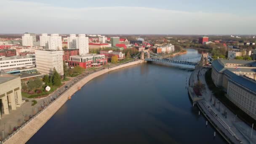
[[(251, 126), (240, 120), (234, 113), (213, 96), (205, 82), (205, 72), (208, 69), (200, 68), (191, 75), (190, 85), (199, 79), (205, 85), (205, 92), (202, 93), (203, 100), (197, 102), (198, 107), (205, 116), (210, 119), (213, 126), (221, 131), (221, 134), (235, 144), (256, 144), (256, 131), (253, 130), (251, 138)], [(198, 78), (197, 78), (198, 75)], [(224, 116), (227, 112), (227, 117)]]

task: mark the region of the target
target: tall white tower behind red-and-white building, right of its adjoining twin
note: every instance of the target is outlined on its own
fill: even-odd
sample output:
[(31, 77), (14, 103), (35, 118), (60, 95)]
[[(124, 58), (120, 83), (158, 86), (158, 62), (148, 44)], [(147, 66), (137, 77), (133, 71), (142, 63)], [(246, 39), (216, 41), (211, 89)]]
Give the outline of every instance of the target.
[(89, 38), (85, 37), (85, 34), (79, 34), (77, 37), (77, 48), (79, 54), (84, 55), (89, 53)]

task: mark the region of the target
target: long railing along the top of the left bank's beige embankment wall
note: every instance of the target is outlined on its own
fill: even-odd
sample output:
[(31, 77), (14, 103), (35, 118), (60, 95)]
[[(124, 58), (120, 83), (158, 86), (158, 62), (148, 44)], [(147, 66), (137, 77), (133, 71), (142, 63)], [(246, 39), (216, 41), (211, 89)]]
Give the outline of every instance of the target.
[[(113, 68), (113, 67), (117, 67), (117, 66), (120, 66), (120, 65), (123, 65), (123, 64), (128, 64), (130, 62), (133, 62), (133, 61), (138, 61), (140, 59), (133, 59), (131, 61), (126, 61), (124, 63), (121, 63), (121, 64), (115, 64), (114, 66), (110, 66), (110, 68)], [(94, 70), (94, 72), (91, 72), (90, 74), (86, 75), (85, 73), (84, 74), (81, 74), (81, 75), (78, 75), (77, 77), (81, 77), (80, 79), (73, 79), (72, 81), (74, 83), (72, 83), (72, 86), (68, 87), (67, 89), (64, 90), (64, 92), (60, 93), (59, 96), (57, 96), (56, 99), (53, 99), (53, 101), (50, 101), (50, 103), (48, 103), (45, 107), (42, 108), (42, 110), (38, 111), (35, 115), (33, 115), (32, 117), (29, 117), (29, 120), (25, 121), (21, 126), (19, 126), (15, 131), (13, 131), (12, 133), (8, 134), (7, 136), (5, 136), (5, 138), (3, 138), (3, 141), (0, 141), (0, 144), (3, 144), (5, 141), (7, 141), (8, 139), (10, 139), (13, 135), (15, 135), (16, 133), (18, 133), (24, 126), (26, 126), (29, 122), (31, 122), (32, 120), (34, 120), (38, 115), (40, 115), (45, 109), (47, 109), (51, 104), (53, 104), (56, 100), (58, 100), (61, 96), (63, 96), (65, 93), (67, 93), (67, 91), (72, 88), (73, 86), (75, 86), (76, 83), (80, 82), (81, 80), (83, 80), (85, 77), (88, 77), (89, 75), (92, 75), (96, 72), (99, 72), (101, 70), (104, 70), (104, 68), (101, 68), (101, 69), (96, 69)], [(68, 84), (68, 83), (67, 83)], [(63, 85), (64, 86), (67, 86), (66, 85)], [(53, 94), (56, 94), (58, 93), (59, 90), (51, 93), (49, 96), (53, 95)]]

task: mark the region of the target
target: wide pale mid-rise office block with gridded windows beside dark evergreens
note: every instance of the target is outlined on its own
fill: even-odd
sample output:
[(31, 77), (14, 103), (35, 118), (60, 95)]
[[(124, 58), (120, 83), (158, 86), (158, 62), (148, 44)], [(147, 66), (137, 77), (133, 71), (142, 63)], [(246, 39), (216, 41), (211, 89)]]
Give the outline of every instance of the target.
[(64, 75), (63, 51), (35, 50), (35, 58), (37, 71), (41, 74), (52, 75), (55, 68), (60, 75)]

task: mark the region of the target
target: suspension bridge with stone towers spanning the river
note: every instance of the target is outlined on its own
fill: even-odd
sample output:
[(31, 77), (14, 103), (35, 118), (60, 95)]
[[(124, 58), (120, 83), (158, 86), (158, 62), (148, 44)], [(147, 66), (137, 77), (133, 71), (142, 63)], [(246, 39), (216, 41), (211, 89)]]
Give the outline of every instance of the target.
[(140, 53), (134, 56), (134, 58), (139, 58), (139, 56), (140, 56), (140, 59), (143, 59), (145, 61), (157, 61), (157, 62), (163, 62), (163, 63), (184, 64), (184, 65), (191, 65), (191, 66), (208, 64), (209, 62), (211, 63), (211, 61), (213, 60), (210, 56), (208, 56), (208, 53), (203, 53), (202, 56), (197, 56), (193, 58), (185, 58), (185, 59), (169, 58), (168, 59), (156, 53), (153, 53), (152, 51), (142, 50)]

